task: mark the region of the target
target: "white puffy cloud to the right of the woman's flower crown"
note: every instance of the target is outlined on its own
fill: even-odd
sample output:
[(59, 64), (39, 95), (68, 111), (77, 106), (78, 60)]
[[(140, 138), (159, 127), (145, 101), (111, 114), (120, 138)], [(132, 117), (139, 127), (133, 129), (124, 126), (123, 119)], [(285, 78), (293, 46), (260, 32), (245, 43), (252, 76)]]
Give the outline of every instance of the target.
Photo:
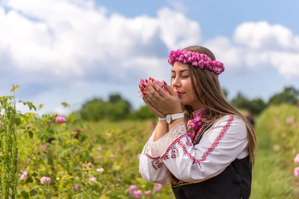
[(227, 69), (273, 66), (286, 78), (299, 77), (299, 35), (282, 25), (244, 22), (233, 39), (217, 37), (204, 46), (214, 52)]

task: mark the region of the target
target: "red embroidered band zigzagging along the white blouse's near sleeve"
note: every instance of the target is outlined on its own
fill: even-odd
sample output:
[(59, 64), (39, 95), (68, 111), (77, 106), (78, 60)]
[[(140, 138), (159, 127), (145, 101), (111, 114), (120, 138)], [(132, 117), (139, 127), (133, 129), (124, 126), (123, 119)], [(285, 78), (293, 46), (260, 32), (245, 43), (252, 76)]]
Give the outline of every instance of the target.
[[(216, 137), (216, 139), (214, 140), (214, 142), (212, 143), (212, 145), (208, 148), (208, 150), (205, 151), (205, 152), (202, 154), (202, 156), (201, 156), (200, 159), (195, 159), (195, 158), (189, 153), (189, 151), (187, 151), (187, 149), (186, 149), (186, 145), (187, 145), (187, 146), (190, 146), (190, 145), (189, 145), (189, 144), (184, 144), (184, 143), (181, 141), (182, 138), (185, 138), (185, 139), (187, 140), (186, 143), (188, 143), (188, 142), (191, 141), (191, 139), (187, 136), (187, 134), (183, 134), (183, 135), (179, 136), (177, 139), (175, 139), (175, 140), (169, 145), (169, 147), (167, 148), (167, 150), (165, 151), (165, 153), (161, 156), (161, 159), (163, 159), (163, 160), (169, 159), (169, 158), (168, 158), (168, 152), (169, 152), (170, 150), (172, 150), (173, 145), (177, 144), (177, 145), (179, 145), (179, 146), (183, 149), (185, 155), (193, 161), (193, 164), (196, 164), (196, 163), (200, 164), (200, 162), (205, 161), (206, 158), (208, 157), (208, 155), (209, 155), (209, 154), (210, 154), (210, 153), (211, 153), (211, 152), (218, 146), (220, 140), (221, 140), (221, 139), (223, 138), (223, 136), (225, 135), (227, 129), (230, 127), (230, 125), (232, 124), (233, 120), (234, 120), (234, 116), (233, 116), (233, 115), (230, 115), (230, 117), (229, 117), (228, 121), (226, 122), (225, 126), (221, 129), (220, 133), (218, 134), (218, 136)], [(192, 145), (191, 145), (191, 146), (192, 146)], [(175, 149), (177, 150), (176, 147), (175, 147)], [(172, 155), (171, 155), (171, 156), (172, 156)], [(172, 157), (171, 157), (171, 158), (172, 158)], [(174, 159), (175, 159), (175, 158), (176, 158), (176, 157), (174, 157)]]

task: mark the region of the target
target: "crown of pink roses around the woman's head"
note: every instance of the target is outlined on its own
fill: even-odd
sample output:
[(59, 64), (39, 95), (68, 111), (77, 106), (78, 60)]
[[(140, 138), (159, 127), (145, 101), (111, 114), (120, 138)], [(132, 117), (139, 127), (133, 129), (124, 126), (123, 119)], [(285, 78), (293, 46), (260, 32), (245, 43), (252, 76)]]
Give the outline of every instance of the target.
[(197, 66), (200, 69), (206, 68), (213, 71), (217, 75), (224, 71), (224, 66), (221, 62), (213, 61), (210, 57), (205, 54), (199, 54), (198, 52), (188, 51), (186, 49), (179, 49), (176, 51), (171, 51), (169, 53), (168, 63), (173, 66), (173, 63), (178, 61), (184, 64), (191, 64), (192, 66)]

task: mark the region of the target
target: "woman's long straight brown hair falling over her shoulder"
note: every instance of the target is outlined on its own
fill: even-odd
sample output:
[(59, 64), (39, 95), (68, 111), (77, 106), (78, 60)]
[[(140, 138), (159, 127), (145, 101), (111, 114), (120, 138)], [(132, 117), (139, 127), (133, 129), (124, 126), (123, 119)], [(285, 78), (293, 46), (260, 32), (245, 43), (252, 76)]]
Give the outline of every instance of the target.
[[(205, 47), (190, 46), (185, 49), (192, 52), (206, 54), (212, 60), (215, 60), (214, 54)], [(255, 130), (252, 127), (252, 125), (245, 118), (245, 116), (243, 116), (238, 111), (237, 108), (235, 108), (226, 100), (224, 93), (220, 87), (218, 76), (216, 74), (214, 74), (213, 72), (207, 69), (200, 69), (198, 67), (193, 67), (191, 64), (188, 64), (188, 68), (189, 68), (190, 78), (192, 82), (192, 87), (196, 94), (196, 97), (199, 100), (199, 102), (205, 106), (206, 109), (205, 122), (215, 121), (225, 115), (235, 115), (243, 120), (243, 122), (247, 127), (249, 158), (250, 158), (250, 162), (254, 166), (257, 138), (256, 138)], [(198, 88), (201, 88), (201, 92), (205, 100), (201, 99)], [(188, 120), (193, 118), (193, 114), (192, 114), (193, 110), (190, 105), (182, 105), (182, 109), (185, 114), (185, 123), (187, 125)], [(170, 171), (168, 173), (168, 178), (173, 184), (176, 184), (178, 182), (178, 179), (174, 177)]]

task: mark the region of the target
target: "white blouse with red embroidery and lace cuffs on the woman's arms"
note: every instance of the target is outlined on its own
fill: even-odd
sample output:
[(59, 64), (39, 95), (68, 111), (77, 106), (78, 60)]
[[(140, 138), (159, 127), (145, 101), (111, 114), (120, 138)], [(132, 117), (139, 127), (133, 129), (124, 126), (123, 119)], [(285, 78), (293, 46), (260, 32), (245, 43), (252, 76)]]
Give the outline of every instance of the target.
[(246, 125), (233, 115), (220, 118), (195, 146), (186, 134), (184, 122), (157, 141), (153, 141), (154, 133), (155, 130), (143, 149), (139, 165), (142, 177), (152, 183), (169, 185), (168, 170), (183, 182), (199, 183), (249, 154)]

